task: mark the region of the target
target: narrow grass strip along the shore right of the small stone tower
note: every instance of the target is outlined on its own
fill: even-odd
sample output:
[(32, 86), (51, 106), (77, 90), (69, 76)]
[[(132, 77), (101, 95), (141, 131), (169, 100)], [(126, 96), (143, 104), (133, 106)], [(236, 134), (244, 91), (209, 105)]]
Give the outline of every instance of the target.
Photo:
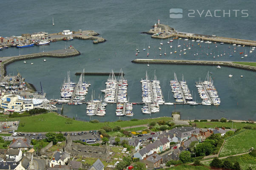
[[(230, 127), (232, 128), (232, 122), (191, 122), (192, 125), (196, 124), (198, 128), (209, 128), (209, 127)], [(240, 123), (240, 122), (233, 122), (233, 128), (241, 129), (242, 127), (249, 125), (251, 127), (256, 127), (256, 123)]]

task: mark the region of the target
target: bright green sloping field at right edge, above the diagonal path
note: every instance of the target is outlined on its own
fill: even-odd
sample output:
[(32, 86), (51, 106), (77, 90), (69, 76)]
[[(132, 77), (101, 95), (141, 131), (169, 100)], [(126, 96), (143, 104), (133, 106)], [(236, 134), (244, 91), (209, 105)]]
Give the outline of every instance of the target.
[(256, 130), (243, 130), (226, 140), (219, 157), (248, 152), (256, 146)]

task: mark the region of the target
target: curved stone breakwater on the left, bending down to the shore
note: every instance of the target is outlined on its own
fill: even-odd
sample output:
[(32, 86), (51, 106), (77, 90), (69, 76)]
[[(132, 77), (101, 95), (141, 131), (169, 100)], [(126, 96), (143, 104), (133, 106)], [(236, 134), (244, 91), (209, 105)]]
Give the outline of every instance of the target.
[(54, 51), (48, 51), (43, 53), (13, 56), (13, 57), (0, 57), (0, 60), (2, 60), (0, 64), (1, 73), (2, 73), (1, 77), (6, 76), (6, 66), (15, 61), (35, 59), (40, 57), (66, 58), (66, 57), (78, 56), (80, 54), (81, 53), (76, 49), (68, 48), (68, 49), (54, 50)]

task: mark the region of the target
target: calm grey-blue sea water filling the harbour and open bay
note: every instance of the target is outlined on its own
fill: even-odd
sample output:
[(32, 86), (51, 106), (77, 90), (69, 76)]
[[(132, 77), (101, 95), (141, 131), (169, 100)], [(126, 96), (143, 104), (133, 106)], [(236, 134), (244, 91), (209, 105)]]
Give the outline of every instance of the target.
[[(219, 2), (219, 3), (218, 3)], [(15, 6), (13, 5), (15, 4)], [(199, 5), (200, 4), (200, 5)], [(205, 44), (197, 45), (196, 42), (180, 40), (182, 52), (177, 47), (178, 41), (174, 40), (170, 44), (163, 40), (162, 57), (159, 56), (159, 43), (161, 40), (151, 39), (150, 35), (140, 34), (142, 31), (148, 31), (157, 19), (160, 23), (168, 24), (179, 31), (199, 33), (199, 34), (216, 34), (223, 37), (236, 37), (242, 39), (256, 40), (256, 22), (255, 22), (255, 5), (252, 0), (244, 3), (243, 1), (214, 1), (204, 2), (194, 1), (139, 1), (128, 2), (110, 0), (107, 2), (70, 1), (6, 1), (1, 4), (0, 14), (0, 36), (6, 37), (11, 35), (19, 36), (23, 33), (32, 33), (36, 31), (47, 31), (48, 33), (60, 32), (65, 29), (70, 30), (94, 30), (100, 33), (107, 41), (94, 45), (91, 40), (74, 40), (70, 42), (53, 42), (47, 46), (35, 46), (31, 48), (17, 49), (9, 48), (0, 51), (0, 57), (16, 56), (19, 53), (31, 54), (36, 52), (51, 51), (55, 49), (65, 48), (65, 45), (72, 45), (81, 52), (80, 56), (56, 59), (47, 58), (47, 62), (43, 59), (27, 60), (27, 64), (23, 61), (14, 62), (7, 66), (8, 74), (17, 74), (20, 71), (27, 82), (31, 82), (37, 89), (40, 89), (42, 82), (43, 90), (47, 93), (47, 98), (59, 98), (60, 86), (63, 79), (67, 77), (67, 71), (71, 71), (71, 79), (77, 82), (79, 77), (75, 76), (75, 72), (81, 72), (85, 68), (86, 72), (110, 72), (113, 69), (118, 72), (120, 68), (124, 70), (125, 78), (128, 79), (128, 97), (131, 102), (141, 101), (141, 84), (140, 79), (145, 77), (148, 71), (149, 77), (153, 77), (154, 70), (156, 76), (161, 82), (161, 88), (168, 100), (168, 92), (171, 90), (169, 81), (174, 78), (176, 72), (178, 79), (182, 74), (188, 83), (191, 91), (196, 91), (196, 98), (199, 100), (195, 83), (199, 77), (202, 80), (208, 71), (213, 72), (211, 75), (214, 79), (214, 85), (221, 99), (219, 106), (190, 106), (176, 105), (161, 106), (160, 112), (152, 114), (152, 117), (170, 116), (172, 111), (181, 111), (182, 119), (218, 119), (226, 117), (228, 119), (256, 119), (256, 98), (255, 83), (256, 74), (252, 71), (245, 71), (235, 68), (222, 67), (217, 69), (214, 66), (193, 66), (193, 65), (141, 65), (131, 63), (136, 58), (150, 59), (191, 59), (191, 60), (212, 60), (212, 61), (253, 61), (256, 59), (256, 52), (248, 54), (248, 57), (241, 59), (239, 52), (250, 51), (250, 47), (236, 47), (232, 45)], [(183, 17), (181, 19), (171, 19), (169, 17), (170, 8), (182, 8)], [(232, 12), (233, 9), (239, 9), (237, 17)], [(200, 13), (204, 10), (202, 17), (195, 13), (195, 17), (188, 17), (188, 10), (198, 10)], [(214, 15), (214, 10), (221, 10), (217, 15), (223, 15), (223, 10), (230, 10), (225, 17), (204, 17), (206, 11), (210, 10)], [(241, 17), (241, 10), (248, 10), (248, 17)], [(10, 12), (13, 11), (13, 14)], [(197, 12), (197, 11), (196, 11)], [(54, 17), (55, 26), (52, 26), (52, 17)], [(147, 51), (142, 48), (148, 46), (150, 41), (150, 56), (146, 57)], [(191, 50), (188, 50), (190, 43)], [(135, 49), (139, 45), (140, 53), (135, 56)], [(230, 46), (230, 48), (228, 48)], [(187, 54), (183, 54), (183, 48), (186, 48)], [(163, 55), (165, 52), (167, 55)], [(174, 54), (174, 51), (177, 51)], [(234, 52), (236, 51), (236, 52)], [(173, 54), (170, 54), (173, 52)], [(194, 57), (193, 54), (198, 53)], [(206, 54), (209, 55), (206, 55)], [(212, 53), (212, 55), (210, 55)], [(224, 55), (224, 53), (226, 55)], [(179, 54), (182, 54), (179, 56)], [(221, 56), (222, 54), (222, 56)], [(229, 57), (230, 55), (233, 57)], [(217, 57), (219, 55), (220, 57)], [(215, 58), (213, 58), (215, 56)], [(30, 65), (34, 62), (34, 65)], [(228, 75), (232, 74), (232, 78)], [(240, 75), (244, 75), (240, 78)], [(106, 76), (86, 76), (86, 81), (91, 82), (89, 94), (86, 99), (90, 99), (91, 91), (95, 91), (95, 97), (101, 97), (103, 94), (101, 89), (105, 88)], [(172, 93), (170, 92), (169, 101), (174, 102)], [(115, 116), (116, 105), (109, 104), (106, 109), (107, 113), (104, 117), (92, 116), (91, 119), (99, 119), (100, 121), (114, 121), (119, 119)], [(150, 115), (141, 113), (141, 105), (134, 105), (133, 118), (144, 119)], [(89, 120), (90, 117), (85, 115), (86, 105), (64, 106), (64, 115), (76, 117), (81, 120)], [(120, 119), (132, 119), (131, 117), (121, 117)]]

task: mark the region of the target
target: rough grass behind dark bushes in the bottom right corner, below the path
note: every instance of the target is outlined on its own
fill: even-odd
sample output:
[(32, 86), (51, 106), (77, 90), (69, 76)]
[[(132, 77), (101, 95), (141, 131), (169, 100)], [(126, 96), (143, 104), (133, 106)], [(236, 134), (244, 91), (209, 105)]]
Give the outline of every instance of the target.
[[(238, 161), (242, 170), (246, 170), (248, 167), (252, 167), (256, 169), (256, 157), (250, 156), (248, 153), (245, 155), (239, 155), (239, 156), (230, 156), (226, 158), (227, 160), (231, 162)], [(222, 159), (224, 161), (225, 159)], [(205, 161), (202, 162), (206, 166), (210, 166), (211, 161)]]

